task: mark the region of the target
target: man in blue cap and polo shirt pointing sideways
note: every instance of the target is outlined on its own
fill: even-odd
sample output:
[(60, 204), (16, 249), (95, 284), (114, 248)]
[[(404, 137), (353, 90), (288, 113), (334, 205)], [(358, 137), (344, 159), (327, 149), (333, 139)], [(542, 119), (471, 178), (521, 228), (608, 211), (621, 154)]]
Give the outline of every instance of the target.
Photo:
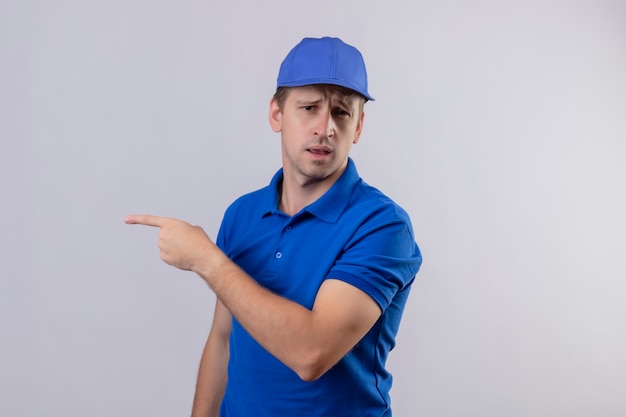
[(348, 157), (373, 100), (361, 53), (303, 39), (283, 61), (269, 121), (283, 167), (235, 201), (214, 244), (176, 219), (161, 258), (217, 297), (193, 416), (391, 416), (385, 369), (421, 264), (407, 214)]

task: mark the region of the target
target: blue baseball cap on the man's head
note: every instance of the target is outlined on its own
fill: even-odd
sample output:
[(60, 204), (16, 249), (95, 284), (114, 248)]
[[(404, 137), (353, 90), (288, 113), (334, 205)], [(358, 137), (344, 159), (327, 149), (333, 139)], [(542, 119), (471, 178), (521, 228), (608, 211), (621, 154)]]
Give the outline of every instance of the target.
[(280, 64), (276, 88), (312, 84), (339, 85), (374, 100), (367, 92), (363, 56), (339, 38), (304, 38)]

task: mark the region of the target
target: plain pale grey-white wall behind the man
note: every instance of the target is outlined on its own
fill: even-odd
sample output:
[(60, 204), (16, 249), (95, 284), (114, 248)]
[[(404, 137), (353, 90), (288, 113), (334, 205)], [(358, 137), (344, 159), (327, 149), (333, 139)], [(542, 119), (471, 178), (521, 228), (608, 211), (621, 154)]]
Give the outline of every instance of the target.
[(619, 0), (0, 0), (0, 415), (189, 413), (213, 295), (123, 217), (215, 236), (322, 35), (365, 56), (352, 155), (424, 255), (394, 415), (626, 415)]

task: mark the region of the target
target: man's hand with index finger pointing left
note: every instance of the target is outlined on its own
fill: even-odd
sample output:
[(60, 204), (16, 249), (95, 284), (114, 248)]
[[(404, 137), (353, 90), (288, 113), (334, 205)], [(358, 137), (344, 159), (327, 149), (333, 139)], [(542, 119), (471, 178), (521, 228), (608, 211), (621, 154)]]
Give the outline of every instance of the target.
[(133, 214), (124, 219), (127, 224), (153, 226), (159, 230), (161, 259), (169, 265), (186, 271), (199, 272), (201, 265), (210, 260), (217, 246), (200, 226), (168, 217)]

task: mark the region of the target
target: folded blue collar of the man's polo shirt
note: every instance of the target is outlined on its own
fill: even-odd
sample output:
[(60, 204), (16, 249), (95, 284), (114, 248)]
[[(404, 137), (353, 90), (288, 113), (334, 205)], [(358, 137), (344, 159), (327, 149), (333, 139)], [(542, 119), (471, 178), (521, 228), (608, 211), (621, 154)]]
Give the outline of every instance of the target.
[[(343, 174), (341, 174), (337, 181), (335, 181), (332, 187), (330, 187), (330, 189), (326, 191), (323, 196), (305, 207), (303, 211), (307, 211), (328, 223), (336, 222), (350, 201), (352, 190), (359, 180), (360, 178), (359, 173), (356, 170), (356, 165), (351, 158), (348, 158), (346, 170)], [(280, 199), (279, 190), (282, 182), (283, 169), (281, 168), (278, 172), (276, 172), (276, 174), (274, 174), (269, 187), (266, 189), (267, 192), (265, 199), (261, 206), (261, 213), (263, 213), (263, 216), (280, 212), (278, 205)]]

